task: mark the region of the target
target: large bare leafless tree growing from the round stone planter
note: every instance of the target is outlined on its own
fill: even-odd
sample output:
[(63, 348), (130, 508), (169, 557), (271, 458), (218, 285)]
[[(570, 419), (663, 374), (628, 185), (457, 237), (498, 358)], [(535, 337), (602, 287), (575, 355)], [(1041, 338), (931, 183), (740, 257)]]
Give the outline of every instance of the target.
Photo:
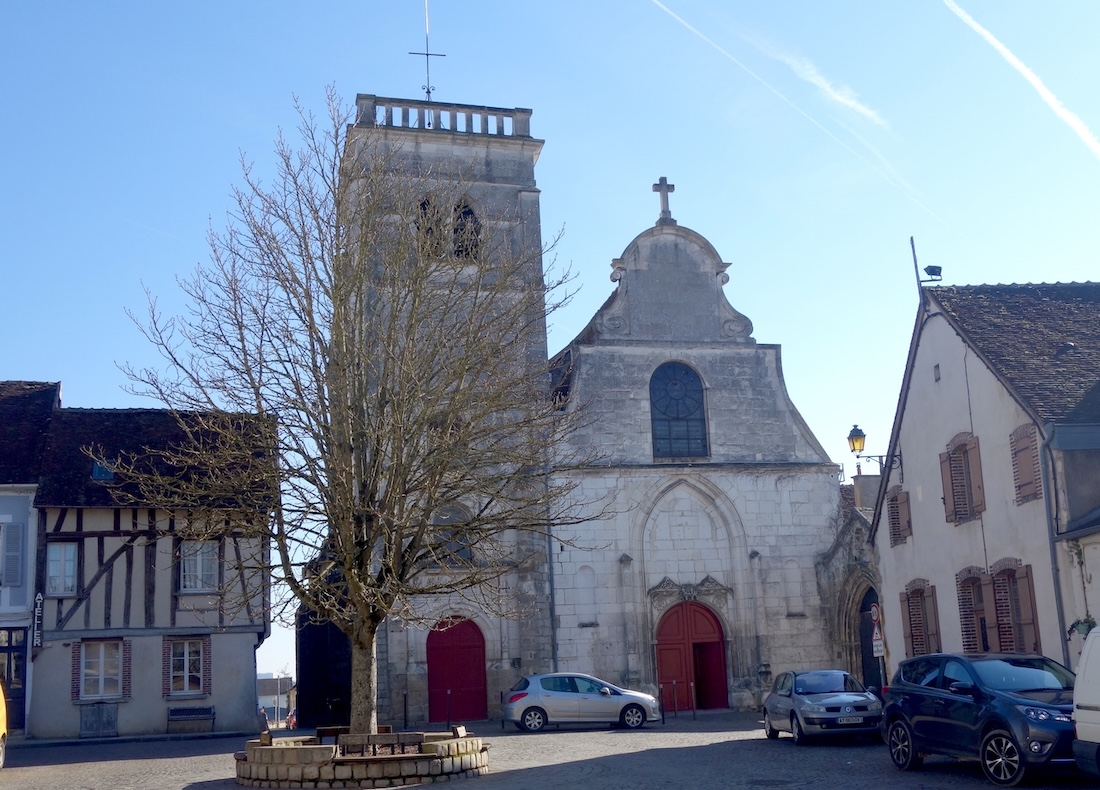
[[(580, 520), (560, 472), (591, 459), (559, 449), (551, 470), (582, 419), (556, 401), (546, 358), (568, 275), (547, 283), (543, 250), (479, 228), (461, 174), (397, 166), (400, 151), (328, 98), (322, 122), (296, 105), (300, 144), (279, 135), (270, 183), (243, 165), (209, 264), (180, 281), (186, 315), (150, 296), (135, 319), (166, 365), (127, 373), (204, 416), (162, 465), (220, 470), (216, 500), (279, 492), (265, 525), (276, 589), (350, 637), (351, 725), (373, 732), (382, 623), (427, 622), (427, 596), (521, 615), (498, 580), (546, 560), (524, 535)], [(273, 452), (238, 439), (237, 415)], [(182, 480), (145, 484), (185, 506), (198, 492)]]

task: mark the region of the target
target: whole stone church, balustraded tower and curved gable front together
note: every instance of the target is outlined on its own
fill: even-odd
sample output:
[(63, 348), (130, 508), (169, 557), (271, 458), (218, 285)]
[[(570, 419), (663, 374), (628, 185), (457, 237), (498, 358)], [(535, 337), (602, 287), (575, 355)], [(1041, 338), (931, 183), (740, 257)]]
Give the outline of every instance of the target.
[[(530, 136), (530, 110), (359, 105), (361, 123), (399, 139), (415, 162), (448, 162), (470, 179), (465, 206), (483, 232), (540, 245), (542, 141)], [(380, 721), (495, 717), (503, 692), (536, 672), (590, 672), (651, 691), (671, 712), (757, 706), (784, 669), (858, 671), (845, 665), (858, 659), (857, 610), (873, 597), (873, 575), (855, 589), (833, 557), (838, 467), (787, 393), (780, 348), (758, 342), (727, 299), (729, 264), (673, 219), (672, 185), (653, 189), (656, 224), (613, 260), (613, 293), (550, 360), (564, 408), (586, 410), (585, 429), (560, 450), (600, 456), (570, 472), (591, 518), (550, 525), (542, 546), (526, 547), (537, 561), (503, 580), (527, 619), (454, 601), (432, 604), (436, 628), (386, 622)], [(301, 632), (304, 726), (342, 717), (341, 639)]]

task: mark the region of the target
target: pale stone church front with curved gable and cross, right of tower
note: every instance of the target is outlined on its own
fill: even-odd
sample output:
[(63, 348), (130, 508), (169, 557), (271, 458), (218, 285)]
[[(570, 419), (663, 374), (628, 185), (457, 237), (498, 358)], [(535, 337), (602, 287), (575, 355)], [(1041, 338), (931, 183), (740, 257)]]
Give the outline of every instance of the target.
[(657, 690), (667, 710), (746, 707), (772, 668), (829, 662), (814, 562), (836, 530), (837, 468), (670, 189), (654, 185), (660, 218), (556, 358), (570, 407), (587, 409), (574, 440), (604, 461), (576, 490), (602, 515), (551, 558), (558, 668)]

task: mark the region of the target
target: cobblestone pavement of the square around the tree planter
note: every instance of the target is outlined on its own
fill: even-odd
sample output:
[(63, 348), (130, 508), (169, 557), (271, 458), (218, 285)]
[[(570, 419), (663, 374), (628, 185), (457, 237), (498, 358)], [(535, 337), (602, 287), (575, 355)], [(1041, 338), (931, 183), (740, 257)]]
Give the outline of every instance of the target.
[[(752, 714), (669, 718), (638, 732), (563, 727), (519, 733), (499, 722), (470, 727), (491, 744), (487, 777), (466, 779), (470, 790), (638, 790), (638, 788), (988, 788), (976, 764), (930, 758), (902, 773), (886, 746), (869, 740), (795, 746), (787, 736), (763, 737)], [(278, 733), (276, 733), (277, 737)], [(233, 753), (243, 738), (142, 740), (108, 744), (14, 745), (0, 788), (18, 790), (229, 790)], [(1094, 788), (1093, 779), (1065, 771), (1032, 788)]]

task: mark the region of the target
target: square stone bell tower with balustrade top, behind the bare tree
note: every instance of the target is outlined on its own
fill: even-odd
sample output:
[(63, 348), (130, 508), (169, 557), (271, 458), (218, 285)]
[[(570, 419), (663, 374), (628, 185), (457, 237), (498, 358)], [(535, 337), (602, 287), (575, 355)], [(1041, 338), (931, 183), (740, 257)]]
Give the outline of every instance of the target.
[[(364, 145), (381, 150), (387, 167), (414, 186), (422, 182), (426, 195), (450, 196), (457, 189), (455, 211), (469, 215), (475, 223), (479, 246), (488, 255), (486, 260), (492, 263), (498, 254), (502, 260), (521, 262), (519, 272), (512, 268), (508, 275), (521, 281), (515, 283), (517, 294), (529, 293), (535, 285), (541, 292), (542, 237), (535, 163), (542, 141), (531, 136), (530, 110), (371, 95), (358, 96), (355, 107), (356, 120), (348, 130), (349, 149)], [(457, 241), (453, 252), (461, 259)], [(541, 311), (528, 326), (531, 337), (525, 351), (534, 364), (544, 366), (547, 339)], [(549, 385), (549, 376), (547, 381)], [(380, 629), (377, 644), (381, 721), (414, 725), (452, 717), (471, 721), (486, 714), (495, 716), (499, 690), (509, 688), (521, 673), (553, 668), (547, 540), (541, 535), (520, 533), (516, 542), (516, 555), (531, 559), (517, 566), (502, 583), (507, 585), (505, 594), (513, 596), (516, 606), (530, 613), (529, 618), (502, 619), (455, 600), (433, 602), (431, 607), (439, 610), (440, 622), (461, 622), (462, 627), (428, 630), (398, 619), (387, 621)], [(339, 696), (337, 687), (343, 685), (331, 674), (341, 666), (333, 638), (342, 643), (343, 637), (318, 630), (321, 636), (328, 641), (316, 648), (310, 648), (306, 634), (299, 636), (299, 691), (305, 693), (302, 687), (312, 677), (318, 688), (311, 693), (332, 700)], [(302, 666), (307, 656), (314, 656), (310, 667)], [(326, 666), (330, 668), (328, 677)], [(320, 688), (326, 683), (333, 690)], [(446, 690), (443, 702), (440, 688)], [(334, 705), (329, 707), (329, 713), (336, 711)]]

